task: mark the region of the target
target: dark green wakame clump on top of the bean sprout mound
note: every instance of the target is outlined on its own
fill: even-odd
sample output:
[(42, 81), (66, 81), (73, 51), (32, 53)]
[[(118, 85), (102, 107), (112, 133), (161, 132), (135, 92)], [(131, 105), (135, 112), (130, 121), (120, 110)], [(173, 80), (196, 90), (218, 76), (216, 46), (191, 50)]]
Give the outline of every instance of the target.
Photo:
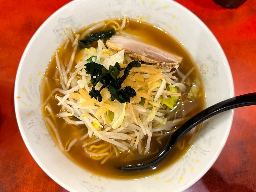
[[(104, 88), (107, 88), (110, 92), (112, 101), (116, 99), (120, 103), (130, 103), (130, 97), (133, 98), (136, 95), (135, 90), (131, 86), (121, 89), (121, 84), (127, 78), (133, 67), (140, 67), (140, 63), (138, 61), (130, 62), (126, 68), (121, 68), (118, 62), (116, 62), (115, 66), (110, 65), (109, 69), (106, 69), (103, 65), (95, 62), (86, 63), (84, 66), (86, 73), (91, 75), (92, 91), (89, 92), (91, 98), (102, 101), (102, 95), (100, 92)], [(120, 71), (123, 69), (124, 75), (117, 78)], [(95, 86), (98, 82), (102, 83), (102, 86), (99, 90), (96, 90)]]

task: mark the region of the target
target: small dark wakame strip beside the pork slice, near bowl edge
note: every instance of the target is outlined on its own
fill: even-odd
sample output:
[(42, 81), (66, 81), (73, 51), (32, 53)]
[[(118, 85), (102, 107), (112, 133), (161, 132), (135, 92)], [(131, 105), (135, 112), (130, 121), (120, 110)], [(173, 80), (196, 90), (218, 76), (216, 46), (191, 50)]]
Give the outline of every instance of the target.
[(98, 41), (99, 39), (109, 38), (112, 35), (115, 35), (115, 29), (109, 29), (106, 31), (100, 31), (99, 33), (92, 33), (90, 36), (86, 36), (84, 40), (79, 40), (78, 44), (81, 49), (84, 49), (90, 46), (93, 42)]

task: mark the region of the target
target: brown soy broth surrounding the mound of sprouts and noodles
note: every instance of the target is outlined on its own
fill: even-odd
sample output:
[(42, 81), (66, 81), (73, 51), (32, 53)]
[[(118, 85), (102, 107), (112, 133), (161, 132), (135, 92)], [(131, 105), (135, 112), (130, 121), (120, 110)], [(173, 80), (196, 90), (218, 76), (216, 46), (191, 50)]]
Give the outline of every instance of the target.
[[(116, 20), (119, 24), (121, 24), (122, 20)], [(98, 29), (100, 31), (101, 29)], [(140, 23), (135, 20), (131, 20), (129, 24), (125, 27), (124, 32), (130, 33), (136, 36), (139, 36), (144, 42), (148, 44), (152, 44), (156, 47), (159, 47), (165, 51), (172, 52), (174, 54), (177, 54), (179, 56), (183, 57), (183, 63), (180, 67), (180, 71), (183, 74), (186, 74), (192, 67), (195, 67), (194, 61), (191, 59), (188, 52), (184, 49), (184, 47), (176, 41), (174, 38), (172, 38), (170, 35), (164, 33), (163, 31), (159, 30), (156, 27), (153, 27), (152, 25)], [(64, 50), (64, 44), (60, 46), (60, 57), (62, 58), (63, 64), (65, 66), (68, 65), (70, 56), (72, 54), (73, 47), (69, 43), (67, 46), (67, 49)], [(77, 51), (75, 62), (78, 62), (82, 59), (82, 54), (80, 51)], [(74, 64), (75, 66), (75, 64)], [(74, 67), (73, 66), (73, 67)], [(51, 95), (52, 90), (55, 88), (61, 88), (60, 82), (54, 80), (54, 76), (56, 73), (56, 61), (54, 58), (54, 55), (52, 57), (52, 60), (49, 63), (48, 68), (46, 69), (44, 80), (42, 82), (42, 104), (44, 101), (48, 98), (49, 95)], [(189, 76), (189, 81), (193, 82), (194, 79), (199, 79), (201, 81), (201, 77), (199, 75), (198, 69), (196, 68), (193, 70), (193, 72)], [(46, 83), (47, 80), (49, 81), (49, 85)], [(203, 86), (199, 86), (198, 96), (196, 100), (193, 102), (189, 102), (185, 100), (186, 93), (182, 94), (180, 97), (180, 107), (182, 104), (184, 104), (184, 107), (186, 110), (178, 110), (176, 113), (177, 117), (183, 116), (184, 113), (186, 114), (186, 118), (189, 118), (199, 111), (201, 111), (204, 108), (204, 89)], [(188, 88), (189, 90), (189, 88)], [(58, 92), (55, 92), (52, 94), (50, 100), (48, 101), (48, 105), (51, 106), (53, 114), (58, 114), (61, 111), (61, 106), (58, 106), (58, 101), (54, 99), (54, 95)], [(60, 94), (60, 93), (58, 93)], [(184, 101), (182, 103), (182, 101)], [(42, 108), (44, 116), (49, 116), (47, 112)], [(81, 138), (86, 132), (87, 128), (85, 125), (70, 125), (67, 124), (63, 118), (52, 118), (53, 123), (55, 124), (58, 133), (60, 135), (61, 141), (65, 147), (65, 144), (75, 138)], [(184, 120), (185, 121), (185, 120)], [(182, 124), (181, 122), (180, 124)], [(177, 127), (180, 126), (177, 125)], [(58, 142), (56, 140), (56, 136), (53, 133), (52, 129), (49, 125), (47, 125), (47, 128), (55, 141), (56, 145), (58, 146)], [(118, 169), (118, 167), (122, 167), (126, 164), (137, 164), (145, 161), (146, 159), (150, 159), (153, 156), (157, 154), (157, 151), (160, 152), (167, 142), (169, 135), (166, 134), (166, 136), (162, 136), (161, 142), (158, 142), (156, 140), (156, 136), (152, 137), (151, 139), (151, 151), (152, 154), (150, 155), (141, 155), (138, 152), (129, 151), (128, 153), (120, 153), (118, 158), (110, 158), (105, 164), (100, 164), (101, 161), (96, 161), (92, 158), (90, 158), (85, 152), (84, 149), (81, 147), (83, 145), (82, 141), (77, 141), (74, 146), (68, 151), (63, 152), (65, 155), (67, 155), (70, 159), (72, 159), (74, 162), (76, 162), (78, 165), (83, 167), (86, 170), (91, 171), (94, 174), (105, 176), (105, 177), (112, 177), (112, 178), (123, 178), (123, 179), (136, 179), (141, 177), (146, 177), (151, 174), (161, 172), (164, 168), (167, 166), (170, 166), (175, 161), (180, 159), (188, 149), (191, 147), (193, 140), (196, 138), (196, 134), (198, 133), (199, 127), (196, 127), (193, 131), (188, 132), (179, 142), (178, 144), (173, 148), (171, 153), (159, 164), (156, 169), (154, 170), (146, 170), (146, 171), (140, 171), (140, 172), (122, 172)], [(100, 141), (105, 142), (105, 141)], [(146, 144), (145, 140), (142, 142)], [(143, 146), (144, 147), (144, 146)]]

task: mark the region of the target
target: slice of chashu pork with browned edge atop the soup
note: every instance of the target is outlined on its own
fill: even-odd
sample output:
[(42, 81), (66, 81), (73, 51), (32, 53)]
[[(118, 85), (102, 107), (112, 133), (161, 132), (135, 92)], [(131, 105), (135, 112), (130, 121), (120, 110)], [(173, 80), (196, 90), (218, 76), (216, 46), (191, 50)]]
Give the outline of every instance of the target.
[(182, 57), (163, 51), (138, 39), (125, 36), (112, 36), (106, 42), (108, 48), (116, 51), (125, 50), (135, 60), (157, 65), (162, 69), (178, 68)]

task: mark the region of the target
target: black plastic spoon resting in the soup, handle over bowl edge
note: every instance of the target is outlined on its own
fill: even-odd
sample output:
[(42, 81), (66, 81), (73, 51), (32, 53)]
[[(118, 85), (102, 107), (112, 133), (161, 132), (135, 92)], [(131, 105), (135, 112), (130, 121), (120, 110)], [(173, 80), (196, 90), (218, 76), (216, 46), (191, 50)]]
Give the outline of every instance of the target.
[(181, 125), (179, 129), (173, 132), (165, 148), (157, 156), (153, 157), (147, 162), (143, 162), (141, 164), (125, 165), (120, 169), (122, 171), (140, 171), (143, 169), (156, 167), (156, 164), (162, 161), (164, 157), (170, 153), (173, 146), (196, 125), (223, 111), (249, 105), (256, 105), (256, 93), (248, 93), (216, 103), (190, 118), (183, 125)]

